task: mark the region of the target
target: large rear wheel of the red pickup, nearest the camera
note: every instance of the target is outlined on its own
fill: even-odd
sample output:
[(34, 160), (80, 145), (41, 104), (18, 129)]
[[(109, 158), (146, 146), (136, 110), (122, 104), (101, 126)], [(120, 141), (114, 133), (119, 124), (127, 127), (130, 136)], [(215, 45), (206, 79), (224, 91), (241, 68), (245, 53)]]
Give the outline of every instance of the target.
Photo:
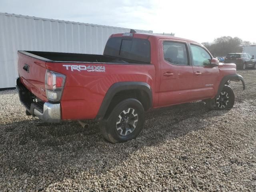
[(100, 126), (102, 135), (112, 143), (126, 142), (140, 134), (144, 126), (144, 108), (140, 101), (130, 98), (117, 104)]

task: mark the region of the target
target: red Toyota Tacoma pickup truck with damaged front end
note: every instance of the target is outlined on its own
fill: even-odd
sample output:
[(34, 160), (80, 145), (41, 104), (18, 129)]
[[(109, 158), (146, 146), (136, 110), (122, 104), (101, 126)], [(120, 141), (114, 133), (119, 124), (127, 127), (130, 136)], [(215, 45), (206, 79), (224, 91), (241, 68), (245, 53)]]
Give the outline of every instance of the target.
[(18, 51), (16, 89), (27, 115), (48, 122), (97, 120), (110, 142), (136, 138), (152, 108), (204, 100), (234, 105), (235, 64), (197, 42), (172, 36), (113, 34), (103, 55)]

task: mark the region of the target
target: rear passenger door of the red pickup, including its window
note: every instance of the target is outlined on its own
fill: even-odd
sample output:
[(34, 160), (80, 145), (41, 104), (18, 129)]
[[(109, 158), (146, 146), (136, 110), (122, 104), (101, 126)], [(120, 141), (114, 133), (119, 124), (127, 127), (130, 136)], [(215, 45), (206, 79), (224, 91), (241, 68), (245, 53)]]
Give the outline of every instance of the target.
[(193, 68), (186, 41), (159, 40), (161, 82), (158, 106), (188, 102)]

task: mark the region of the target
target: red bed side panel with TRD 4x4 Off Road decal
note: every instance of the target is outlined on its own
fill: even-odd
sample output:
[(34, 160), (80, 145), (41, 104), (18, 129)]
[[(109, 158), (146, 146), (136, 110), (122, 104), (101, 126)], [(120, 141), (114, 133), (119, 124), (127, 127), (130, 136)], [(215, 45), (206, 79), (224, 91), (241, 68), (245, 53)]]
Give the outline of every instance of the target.
[[(105, 72), (68, 70), (63, 65), (104, 66)], [(66, 75), (61, 100), (62, 120), (94, 119), (106, 92), (116, 82), (146, 82), (154, 92), (153, 64), (48, 63), (46, 68)], [(153, 96), (154, 102), (154, 96)]]

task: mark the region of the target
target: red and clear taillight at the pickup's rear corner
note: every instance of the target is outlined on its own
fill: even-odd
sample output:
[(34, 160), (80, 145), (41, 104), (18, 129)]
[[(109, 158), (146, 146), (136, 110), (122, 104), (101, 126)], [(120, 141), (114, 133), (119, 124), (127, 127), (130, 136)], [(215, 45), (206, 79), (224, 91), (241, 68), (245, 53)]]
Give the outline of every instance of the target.
[(50, 70), (45, 74), (46, 96), (50, 101), (60, 101), (66, 76)]

